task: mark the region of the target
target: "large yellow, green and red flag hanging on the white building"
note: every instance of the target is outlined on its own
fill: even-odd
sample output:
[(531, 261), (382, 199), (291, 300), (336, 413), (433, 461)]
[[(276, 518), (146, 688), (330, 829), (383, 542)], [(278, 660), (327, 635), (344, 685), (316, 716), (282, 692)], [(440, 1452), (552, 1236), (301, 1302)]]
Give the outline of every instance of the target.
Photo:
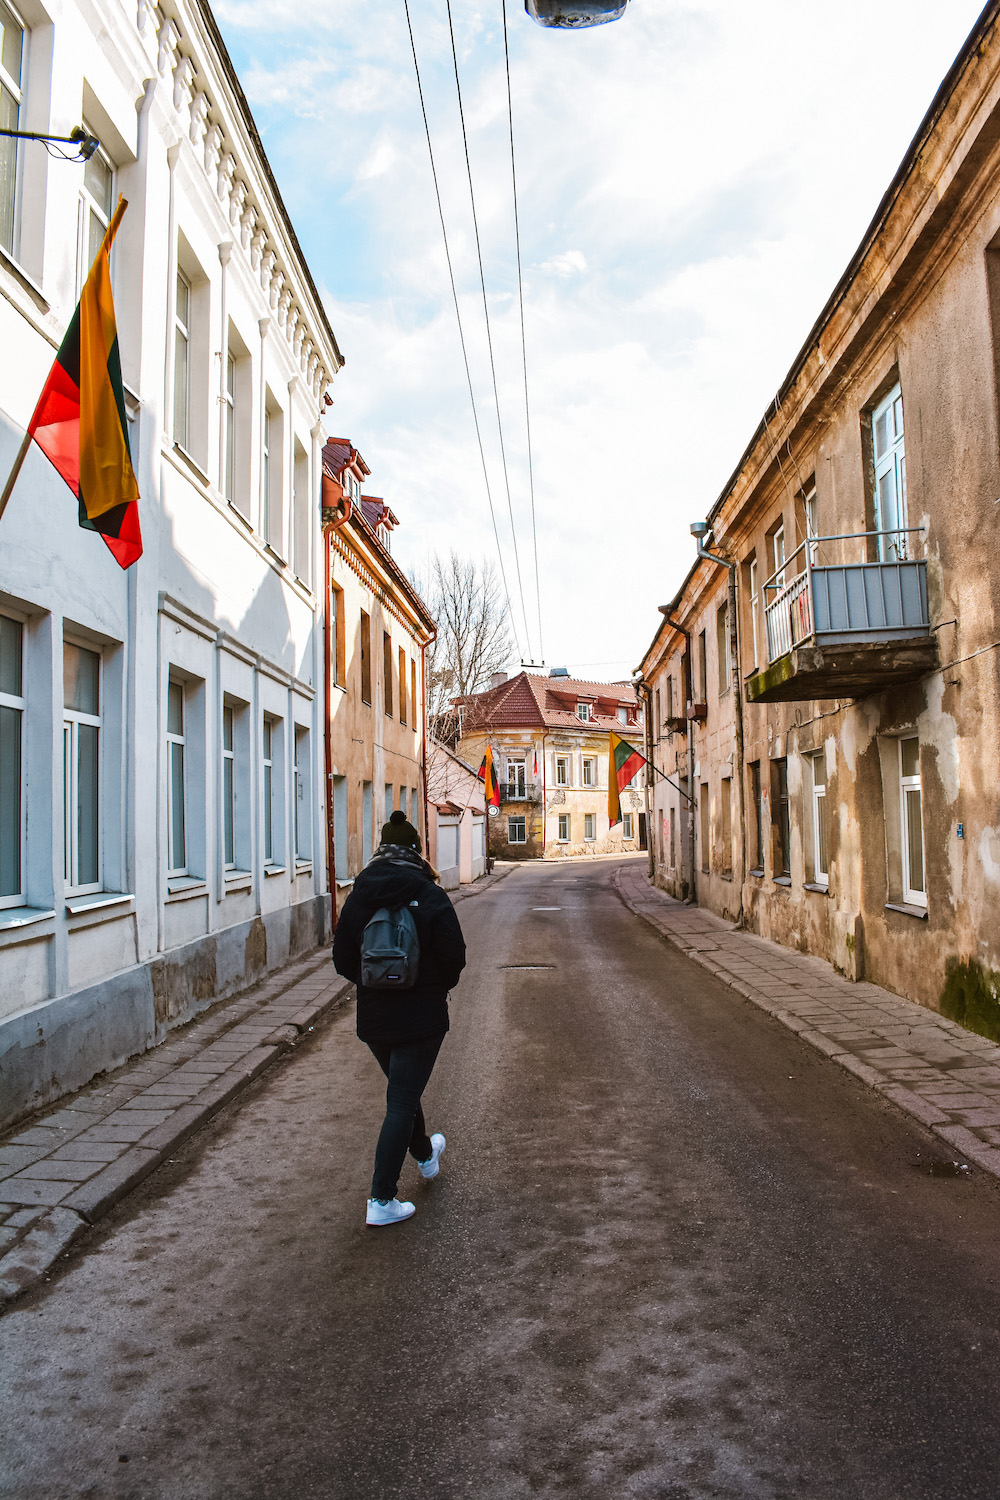
[(28, 436), (78, 496), (79, 525), (100, 532), (120, 567), (142, 555), (108, 266), (126, 208), (118, 198), (28, 423)]

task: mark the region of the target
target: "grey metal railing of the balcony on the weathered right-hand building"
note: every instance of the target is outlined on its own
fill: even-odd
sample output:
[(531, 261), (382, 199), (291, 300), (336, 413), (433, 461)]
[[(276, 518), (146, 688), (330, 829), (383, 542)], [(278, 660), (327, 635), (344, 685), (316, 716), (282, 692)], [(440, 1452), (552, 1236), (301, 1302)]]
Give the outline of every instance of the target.
[[(927, 561), (906, 555), (906, 534), (922, 526), (894, 531), (852, 531), (837, 537), (808, 537), (762, 588), (768, 662), (777, 662), (799, 645), (841, 645), (907, 640), (927, 636)], [(817, 566), (823, 543), (892, 538), (885, 550), (895, 556), (880, 562)], [(802, 572), (789, 578), (802, 556)], [(786, 582), (787, 580), (787, 582)]]

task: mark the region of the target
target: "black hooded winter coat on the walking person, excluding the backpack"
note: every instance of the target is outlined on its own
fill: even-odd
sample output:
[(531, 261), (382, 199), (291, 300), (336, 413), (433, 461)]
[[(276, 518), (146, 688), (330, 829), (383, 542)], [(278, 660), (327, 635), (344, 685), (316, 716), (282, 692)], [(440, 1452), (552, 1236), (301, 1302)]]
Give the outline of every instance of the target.
[[(420, 969), (412, 990), (361, 986), (361, 934), (379, 906), (411, 906), (420, 939)], [(361, 1041), (408, 1042), (448, 1029), (448, 990), (465, 969), (465, 939), (451, 900), (415, 850), (382, 846), (366, 864), (343, 903), (333, 938), (337, 974), (357, 984)]]

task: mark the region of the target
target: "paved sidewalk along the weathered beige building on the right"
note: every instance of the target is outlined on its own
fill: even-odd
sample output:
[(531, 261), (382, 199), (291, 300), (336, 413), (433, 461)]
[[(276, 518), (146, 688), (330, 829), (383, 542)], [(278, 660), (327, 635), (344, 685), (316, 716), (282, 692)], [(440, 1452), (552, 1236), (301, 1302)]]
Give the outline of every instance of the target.
[(1000, 1178), (1000, 1047), (825, 958), (739, 932), (657, 890), (645, 861), (616, 873), (627, 906), (702, 968)]

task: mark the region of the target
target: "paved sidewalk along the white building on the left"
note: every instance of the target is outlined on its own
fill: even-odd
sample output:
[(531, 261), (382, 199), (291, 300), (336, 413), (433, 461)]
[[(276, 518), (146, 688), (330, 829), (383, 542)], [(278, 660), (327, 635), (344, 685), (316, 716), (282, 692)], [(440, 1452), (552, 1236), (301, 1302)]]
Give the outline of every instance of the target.
[(0, 1306), (351, 990), (330, 950), (316, 948), (0, 1137)]

